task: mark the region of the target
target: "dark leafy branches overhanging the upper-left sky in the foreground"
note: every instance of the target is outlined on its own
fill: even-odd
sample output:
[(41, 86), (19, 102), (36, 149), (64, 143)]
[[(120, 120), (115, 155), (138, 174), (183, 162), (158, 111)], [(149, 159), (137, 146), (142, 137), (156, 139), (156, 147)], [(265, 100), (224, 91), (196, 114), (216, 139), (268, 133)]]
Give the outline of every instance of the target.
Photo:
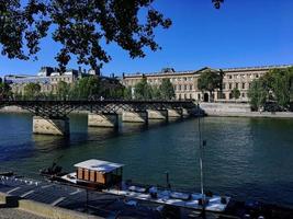
[[(102, 45), (115, 43), (132, 58), (144, 57), (144, 48), (157, 50), (154, 31), (171, 25), (153, 8), (154, 0), (5, 0), (0, 1), (0, 44), (9, 58), (29, 59), (38, 50), (48, 30), (61, 45), (56, 60), (61, 71), (77, 56), (78, 64), (108, 62)], [(138, 18), (146, 14), (145, 18)], [(52, 28), (50, 28), (52, 27)], [(29, 49), (26, 49), (29, 48)], [(25, 54), (25, 50), (29, 50)]]

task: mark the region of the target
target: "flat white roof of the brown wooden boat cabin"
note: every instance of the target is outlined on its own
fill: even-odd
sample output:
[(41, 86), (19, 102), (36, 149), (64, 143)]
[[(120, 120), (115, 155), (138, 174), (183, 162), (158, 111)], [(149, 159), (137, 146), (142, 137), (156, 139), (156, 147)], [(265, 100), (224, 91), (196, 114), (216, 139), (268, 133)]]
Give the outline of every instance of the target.
[(112, 163), (109, 161), (102, 161), (97, 159), (90, 159), (80, 163), (75, 164), (76, 168), (88, 169), (91, 171), (98, 171), (101, 173), (110, 173), (116, 169), (122, 168), (124, 164)]

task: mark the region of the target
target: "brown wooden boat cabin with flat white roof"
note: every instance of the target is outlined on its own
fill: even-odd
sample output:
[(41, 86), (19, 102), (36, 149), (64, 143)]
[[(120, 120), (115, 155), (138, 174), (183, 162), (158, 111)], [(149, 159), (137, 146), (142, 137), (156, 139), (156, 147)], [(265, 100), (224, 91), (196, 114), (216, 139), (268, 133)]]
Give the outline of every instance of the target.
[(78, 184), (109, 187), (122, 183), (124, 164), (91, 159), (77, 163), (75, 166)]

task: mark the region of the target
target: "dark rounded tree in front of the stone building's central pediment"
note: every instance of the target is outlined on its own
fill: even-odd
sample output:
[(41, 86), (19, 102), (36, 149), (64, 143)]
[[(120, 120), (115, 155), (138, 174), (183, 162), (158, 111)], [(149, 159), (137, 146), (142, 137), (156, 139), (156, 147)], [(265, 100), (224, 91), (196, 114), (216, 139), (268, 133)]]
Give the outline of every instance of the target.
[(218, 72), (211, 70), (204, 71), (198, 80), (198, 89), (202, 92), (210, 92), (210, 96), (212, 96), (216, 89), (222, 88), (222, 78), (223, 77)]

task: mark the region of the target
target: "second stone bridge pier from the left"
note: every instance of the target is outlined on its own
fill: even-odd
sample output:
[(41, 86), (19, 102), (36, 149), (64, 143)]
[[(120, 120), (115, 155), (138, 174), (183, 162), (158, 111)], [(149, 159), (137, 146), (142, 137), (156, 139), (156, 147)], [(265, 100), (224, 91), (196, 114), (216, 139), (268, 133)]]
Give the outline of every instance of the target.
[(116, 113), (91, 113), (88, 115), (88, 126), (116, 128), (119, 115)]

